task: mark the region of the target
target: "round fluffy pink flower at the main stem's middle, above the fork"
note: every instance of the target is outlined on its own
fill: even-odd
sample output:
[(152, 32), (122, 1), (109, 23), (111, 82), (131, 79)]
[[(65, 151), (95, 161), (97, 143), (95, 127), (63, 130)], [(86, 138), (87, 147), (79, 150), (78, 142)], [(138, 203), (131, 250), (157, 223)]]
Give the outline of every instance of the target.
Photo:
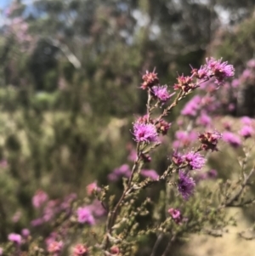
[(133, 125), (133, 135), (137, 142), (156, 142), (158, 134), (155, 125), (151, 123), (135, 122)]

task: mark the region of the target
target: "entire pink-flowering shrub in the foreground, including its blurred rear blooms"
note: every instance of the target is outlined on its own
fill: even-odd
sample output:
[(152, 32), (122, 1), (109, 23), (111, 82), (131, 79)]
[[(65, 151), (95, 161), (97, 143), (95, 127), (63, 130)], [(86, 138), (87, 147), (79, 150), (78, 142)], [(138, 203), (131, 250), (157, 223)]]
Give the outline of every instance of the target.
[[(244, 146), (245, 156), (240, 161), (239, 179), (219, 180), (218, 183), (214, 180), (213, 189), (207, 185), (202, 187), (204, 180), (214, 179), (217, 175), (216, 170), (204, 173), (202, 169), (207, 167), (212, 153), (213, 156), (220, 153), (220, 140), (227, 137), (224, 141), (233, 149), (241, 144), (232, 135), (224, 137), (217, 130), (212, 130), (212, 122), (207, 118), (207, 114), (217, 109), (210, 97), (224, 89), (226, 79), (233, 76), (232, 65), (210, 58), (200, 69), (192, 68), (190, 76), (178, 76), (177, 83), (173, 85), (176, 92), (169, 92), (169, 86), (160, 85), (155, 70), (146, 71), (140, 87), (148, 95), (146, 115), (133, 122), (131, 132), (136, 142), (136, 150), (130, 156), (133, 168), (123, 164), (108, 175), (111, 182), (123, 178), (122, 193), (111, 195), (111, 187), (99, 188), (94, 182), (88, 185), (87, 197), (82, 201), (71, 194), (61, 202), (50, 200), (44, 191), (37, 191), (32, 199), (37, 219), (31, 221), (31, 226), (40, 228), (51, 223), (53, 230), (45, 239), (46, 246), (42, 245), (40, 238), (32, 237), (30, 230), (23, 230), (21, 235), (9, 234), (9, 243), (3, 245), (0, 254), (21, 255), (22, 251), (27, 255), (52, 256), (134, 255), (139, 253), (138, 244), (142, 238), (154, 237), (151, 239), (153, 246), (150, 247), (150, 256), (167, 256), (173, 243), (185, 239), (190, 233), (223, 236), (225, 226), (235, 224), (235, 219), (229, 217), (225, 209), (243, 208), (255, 202), (249, 192), (255, 167), (247, 173), (252, 147), (246, 150)], [(188, 117), (189, 124), (185, 131), (178, 129), (176, 132), (178, 143), (172, 141), (170, 144), (170, 152), (166, 154), (167, 168), (161, 173), (144, 169), (152, 161), (152, 152), (166, 143), (164, 138), (167, 131), (178, 122), (180, 128), (184, 126), (182, 119), (167, 122), (165, 118), (170, 116), (181, 100), (195, 90), (202, 90), (202, 87), (210, 87), (209, 95), (206, 89), (204, 98), (196, 95), (190, 100), (191, 103), (184, 106), (181, 118)], [(200, 115), (203, 115), (201, 120), (198, 118)], [(243, 122), (246, 122), (246, 129), (242, 128), (240, 134), (246, 141), (253, 134), (252, 121), (246, 118)], [(195, 128), (201, 124), (203, 130), (195, 132)], [(191, 147), (193, 141), (196, 145)], [(165, 189), (159, 191), (158, 199), (153, 202), (148, 193), (160, 184)], [(197, 193), (203, 193), (203, 196), (198, 197)], [(144, 218), (150, 218), (150, 221), (140, 223), (140, 219)], [(246, 231), (239, 232), (239, 236), (253, 239), (254, 236), (247, 236)]]

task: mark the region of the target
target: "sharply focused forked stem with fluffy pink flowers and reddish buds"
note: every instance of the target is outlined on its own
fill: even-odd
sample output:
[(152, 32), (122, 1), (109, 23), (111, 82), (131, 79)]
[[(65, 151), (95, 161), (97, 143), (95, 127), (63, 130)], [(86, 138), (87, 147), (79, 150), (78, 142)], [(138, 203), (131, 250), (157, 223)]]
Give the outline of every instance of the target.
[[(170, 184), (177, 185), (178, 192), (183, 196), (184, 200), (189, 200), (190, 196), (193, 195), (195, 189), (195, 180), (189, 176), (189, 171), (187, 171), (187, 168), (190, 170), (202, 168), (206, 160), (198, 152), (208, 150), (218, 151), (218, 139), (221, 139), (221, 134), (216, 132), (206, 132), (205, 134), (201, 134), (198, 137), (198, 139), (201, 141), (201, 145), (197, 148), (197, 150), (190, 151), (184, 156), (173, 155), (173, 162), (168, 166), (167, 170), (161, 176), (158, 176), (157, 179), (145, 179), (144, 181), (139, 182), (135, 174), (139, 175), (141, 168), (143, 167), (144, 157), (142, 156), (145, 154), (150, 154), (150, 151), (159, 146), (160, 142), (158, 135), (160, 133), (166, 134), (167, 129), (170, 128), (171, 124), (167, 124), (167, 122), (163, 121), (162, 118), (167, 117), (173, 108), (178, 105), (178, 102), (183, 100), (188, 94), (191, 94), (196, 88), (199, 88), (201, 83), (207, 82), (214, 78), (214, 81), (218, 84), (218, 86), (220, 86), (224, 83), (225, 78), (233, 77), (233, 75), (234, 68), (232, 65), (228, 65), (227, 62), (222, 63), (221, 60), (214, 60), (212, 58), (210, 60), (207, 59), (207, 64), (201, 66), (200, 70), (192, 69), (192, 75), (190, 77), (178, 77), (178, 83), (176, 83), (173, 87), (174, 90), (178, 90), (177, 96), (173, 100), (172, 104), (168, 105), (164, 111), (162, 111), (159, 117), (152, 119), (152, 111), (155, 110), (160, 103), (162, 105), (166, 104), (167, 100), (170, 100), (173, 94), (168, 93), (167, 86), (159, 85), (159, 79), (155, 70), (152, 72), (146, 71), (143, 76), (144, 82), (142, 83), (141, 88), (148, 91), (148, 100), (146, 105), (147, 115), (140, 117), (133, 124), (134, 140), (137, 141), (137, 158), (133, 164), (127, 184), (124, 185), (125, 188), (122, 196), (108, 215), (108, 234), (106, 235), (105, 249), (109, 247), (109, 236), (112, 235), (113, 226), (116, 224), (118, 212), (120, 212), (121, 208), (124, 206), (125, 200), (128, 200), (127, 196), (128, 198), (132, 197), (132, 194), (137, 194), (138, 191), (142, 191), (150, 185), (170, 179), (174, 173), (178, 173), (178, 181), (177, 183), (170, 182)], [(155, 105), (153, 105), (153, 100), (156, 100)], [(165, 124), (162, 127), (158, 125), (161, 122)], [(154, 144), (150, 145), (150, 143)], [(251, 175), (249, 174), (247, 179), (250, 179)], [(235, 196), (230, 198), (229, 201), (227, 201), (220, 208), (229, 207), (231, 203), (241, 195), (245, 186), (246, 182), (241, 186), (241, 191), (238, 191)], [(218, 210), (220, 210), (220, 208), (218, 208)], [(176, 219), (180, 221), (179, 217)], [(171, 246), (171, 243), (175, 240), (176, 236), (177, 234), (172, 236), (171, 242), (167, 244), (166, 250), (162, 255), (167, 255), (168, 249)], [(154, 255), (157, 244), (161, 240), (161, 237), (161, 235), (158, 236), (156, 245), (153, 248), (151, 255)]]

